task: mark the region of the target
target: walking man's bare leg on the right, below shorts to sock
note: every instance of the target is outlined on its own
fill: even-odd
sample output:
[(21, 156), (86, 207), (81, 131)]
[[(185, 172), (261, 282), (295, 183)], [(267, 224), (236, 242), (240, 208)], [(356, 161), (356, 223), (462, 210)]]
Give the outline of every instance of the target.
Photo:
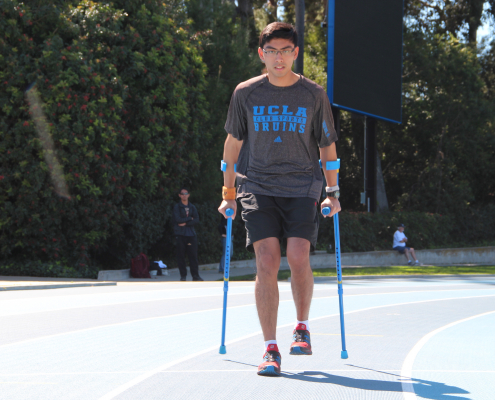
[(291, 270), (291, 288), (297, 311), (297, 320), (309, 319), (309, 307), (313, 298), (313, 271), (309, 265), (310, 242), (291, 237), (287, 239), (287, 261)]

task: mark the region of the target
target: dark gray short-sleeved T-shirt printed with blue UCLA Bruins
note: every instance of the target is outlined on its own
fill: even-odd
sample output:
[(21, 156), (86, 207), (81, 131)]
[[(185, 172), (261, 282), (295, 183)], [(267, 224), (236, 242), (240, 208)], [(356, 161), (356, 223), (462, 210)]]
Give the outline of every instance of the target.
[(266, 75), (237, 86), (225, 130), (243, 144), (237, 161), (237, 197), (248, 193), (320, 198), (319, 147), (337, 140), (327, 94), (300, 76), (274, 86)]

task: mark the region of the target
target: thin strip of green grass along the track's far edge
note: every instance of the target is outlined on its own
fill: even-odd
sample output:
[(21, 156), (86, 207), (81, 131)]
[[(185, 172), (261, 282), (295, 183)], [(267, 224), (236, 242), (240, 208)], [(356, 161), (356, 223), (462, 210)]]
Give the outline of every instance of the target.
[[(495, 265), (473, 266), (392, 266), (392, 267), (361, 267), (342, 268), (344, 276), (359, 275), (466, 275), (466, 274), (495, 274)], [(320, 268), (313, 270), (313, 276), (337, 276), (335, 268)], [(278, 272), (278, 280), (290, 277), (290, 270)], [(254, 281), (256, 274), (230, 277), (231, 281)], [(222, 281), (223, 279), (219, 279)]]

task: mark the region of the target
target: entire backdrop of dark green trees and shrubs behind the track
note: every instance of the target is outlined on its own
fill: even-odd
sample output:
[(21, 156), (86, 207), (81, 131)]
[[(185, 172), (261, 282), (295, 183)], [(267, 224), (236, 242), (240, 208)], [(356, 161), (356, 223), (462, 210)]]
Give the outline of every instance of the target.
[[(438, 21), (420, 3), (405, 2), (404, 123), (377, 130), (395, 212), (343, 212), (343, 251), (389, 249), (397, 220), (416, 248), (493, 244), (495, 45), (476, 54), (445, 34), (463, 37), (459, 16), (479, 22), (468, 1)], [(277, 3), (261, 0), (237, 12), (221, 0), (0, 0), (0, 275), (95, 277), (141, 251), (174, 266), (182, 184), (200, 213), (200, 263), (219, 261), (223, 126), (235, 86), (262, 67), (252, 4), (258, 24), (276, 19)], [(283, 4), (293, 22), (294, 2)], [(323, 86), (324, 7), (306, 2), (305, 75)], [(53, 190), (25, 99), (33, 83), (70, 200)], [(363, 120), (341, 115), (342, 205), (361, 211)], [(250, 258), (240, 217), (234, 232), (233, 259)], [(325, 219), (319, 248), (328, 244)]]

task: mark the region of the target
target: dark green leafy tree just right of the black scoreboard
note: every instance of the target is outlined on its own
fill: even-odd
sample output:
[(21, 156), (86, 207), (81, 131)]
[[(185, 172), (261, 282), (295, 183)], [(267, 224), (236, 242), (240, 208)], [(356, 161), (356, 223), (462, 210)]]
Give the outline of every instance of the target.
[(381, 124), (389, 201), (458, 214), (493, 202), (495, 108), (476, 52), (451, 36), (406, 32), (403, 123)]

